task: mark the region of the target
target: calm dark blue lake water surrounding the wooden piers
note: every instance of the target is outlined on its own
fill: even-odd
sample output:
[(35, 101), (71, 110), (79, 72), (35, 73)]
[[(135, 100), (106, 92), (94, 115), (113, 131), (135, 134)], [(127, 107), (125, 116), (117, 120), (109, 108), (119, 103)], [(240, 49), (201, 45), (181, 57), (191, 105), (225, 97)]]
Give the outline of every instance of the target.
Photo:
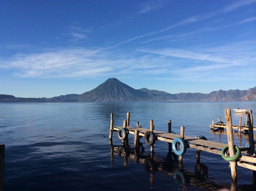
[[(122, 146), (117, 133), (109, 142), (110, 114), (114, 126), (122, 126), (130, 112), (130, 126), (185, 136), (205, 136), (227, 143), (226, 134), (210, 132), (212, 119), (225, 123), (231, 108), (232, 123), (246, 114), (232, 109), (251, 109), (256, 102), (121, 102), (121, 103), (0, 103), (0, 137), (5, 144), (5, 190), (218, 190), (230, 188), (229, 163), (220, 155), (187, 149), (180, 165), (168, 153), (168, 144), (156, 141), (154, 157), (141, 139), (140, 150)], [(254, 125), (255, 126), (255, 125)], [(234, 131), (234, 130), (233, 130)], [(254, 132), (255, 133), (255, 132)], [(106, 135), (106, 138), (103, 138)], [(234, 144), (244, 146), (248, 136), (234, 134)], [(254, 138), (255, 139), (255, 138)], [(237, 190), (254, 190), (252, 171), (237, 166)]]

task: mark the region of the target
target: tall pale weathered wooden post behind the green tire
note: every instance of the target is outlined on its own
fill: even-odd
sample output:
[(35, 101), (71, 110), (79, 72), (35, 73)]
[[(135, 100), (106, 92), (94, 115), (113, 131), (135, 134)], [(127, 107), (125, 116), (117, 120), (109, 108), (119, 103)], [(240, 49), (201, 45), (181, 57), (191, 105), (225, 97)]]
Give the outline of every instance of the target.
[[(233, 129), (232, 129), (232, 118), (230, 108), (225, 108), (225, 120), (226, 120), (226, 129), (228, 137), (228, 150), (229, 156), (232, 157), (235, 155), (234, 152), (234, 140), (233, 140)], [(236, 161), (229, 162), (231, 170), (231, 178), (234, 181), (237, 181), (237, 170), (236, 170)]]

